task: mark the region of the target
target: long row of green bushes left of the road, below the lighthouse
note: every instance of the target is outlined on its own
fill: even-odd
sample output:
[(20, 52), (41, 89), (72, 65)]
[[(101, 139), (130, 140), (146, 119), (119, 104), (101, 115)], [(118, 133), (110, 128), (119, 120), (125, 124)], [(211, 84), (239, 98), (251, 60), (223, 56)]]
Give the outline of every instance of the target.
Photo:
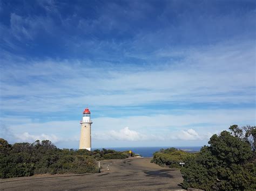
[[(133, 153), (132, 153), (133, 155)], [(10, 145), (0, 138), (0, 178), (44, 173), (97, 173), (97, 160), (124, 159), (129, 152), (59, 149), (49, 140)]]

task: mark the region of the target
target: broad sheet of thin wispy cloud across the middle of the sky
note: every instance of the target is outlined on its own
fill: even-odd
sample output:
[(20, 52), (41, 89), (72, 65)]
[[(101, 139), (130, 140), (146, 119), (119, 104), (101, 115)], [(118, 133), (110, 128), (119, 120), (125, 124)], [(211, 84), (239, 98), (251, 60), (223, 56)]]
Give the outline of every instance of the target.
[(2, 67), (1, 94), (8, 102), (1, 104), (9, 111), (59, 111), (89, 103), (253, 103), (255, 47), (249, 43), (244, 48), (200, 49), (183, 61), (144, 71), (133, 66), (101, 69), (81, 61), (12, 63)]

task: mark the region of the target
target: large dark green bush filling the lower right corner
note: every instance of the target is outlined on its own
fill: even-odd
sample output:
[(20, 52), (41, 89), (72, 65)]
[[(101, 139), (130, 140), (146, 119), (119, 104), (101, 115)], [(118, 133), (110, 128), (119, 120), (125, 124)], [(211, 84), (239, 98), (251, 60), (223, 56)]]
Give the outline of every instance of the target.
[(255, 190), (255, 126), (237, 125), (213, 135), (200, 152), (185, 160), (184, 188)]

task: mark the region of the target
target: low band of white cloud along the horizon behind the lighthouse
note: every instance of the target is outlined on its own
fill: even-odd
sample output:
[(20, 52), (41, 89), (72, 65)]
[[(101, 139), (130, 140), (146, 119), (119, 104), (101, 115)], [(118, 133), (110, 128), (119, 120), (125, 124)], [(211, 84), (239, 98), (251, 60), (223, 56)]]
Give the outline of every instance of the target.
[[(164, 112), (164, 111), (163, 111)], [(78, 113), (77, 115), (80, 115)], [(232, 124), (253, 124), (254, 109), (240, 110), (176, 110), (172, 114), (127, 116), (127, 117), (98, 117), (92, 118), (92, 137), (97, 140), (132, 140), (132, 141), (162, 141), (172, 140), (205, 140), (207, 143), (213, 133), (227, 130)], [(0, 137), (15, 143), (23, 141), (18, 135), (52, 136), (53, 140), (63, 142), (69, 147), (69, 141), (79, 140), (80, 124), (77, 121), (39, 122), (29, 118), (1, 118)], [(126, 126), (130, 128), (120, 127)], [(17, 135), (17, 136), (13, 136)], [(31, 142), (36, 137), (31, 137)], [(65, 142), (65, 143), (64, 143)], [(95, 140), (95, 143), (97, 141)]]

